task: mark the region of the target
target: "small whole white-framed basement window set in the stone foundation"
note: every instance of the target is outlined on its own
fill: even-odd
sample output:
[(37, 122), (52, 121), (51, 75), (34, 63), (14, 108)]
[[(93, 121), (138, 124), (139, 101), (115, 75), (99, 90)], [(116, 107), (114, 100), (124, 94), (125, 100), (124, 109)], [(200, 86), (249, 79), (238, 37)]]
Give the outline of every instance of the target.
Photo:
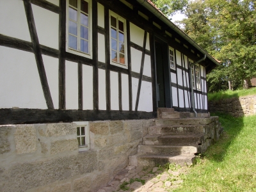
[(90, 138), (89, 138), (89, 123), (88, 122), (74, 122), (77, 125), (77, 141), (79, 151), (90, 149)]

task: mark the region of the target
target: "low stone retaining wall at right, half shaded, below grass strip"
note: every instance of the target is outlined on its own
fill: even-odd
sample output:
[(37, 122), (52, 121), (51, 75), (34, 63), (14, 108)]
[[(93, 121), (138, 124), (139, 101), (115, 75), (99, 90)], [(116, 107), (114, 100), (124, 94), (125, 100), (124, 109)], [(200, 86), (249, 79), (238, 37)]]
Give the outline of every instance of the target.
[(208, 102), (209, 111), (220, 111), (233, 116), (256, 115), (256, 95), (246, 97), (214, 100)]

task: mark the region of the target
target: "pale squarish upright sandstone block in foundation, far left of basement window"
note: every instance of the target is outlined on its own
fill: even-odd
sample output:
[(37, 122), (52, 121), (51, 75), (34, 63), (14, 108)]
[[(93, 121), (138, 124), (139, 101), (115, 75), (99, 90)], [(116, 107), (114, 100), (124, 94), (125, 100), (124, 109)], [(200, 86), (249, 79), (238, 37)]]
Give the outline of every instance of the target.
[(36, 129), (34, 125), (16, 125), (14, 139), (17, 154), (36, 151)]

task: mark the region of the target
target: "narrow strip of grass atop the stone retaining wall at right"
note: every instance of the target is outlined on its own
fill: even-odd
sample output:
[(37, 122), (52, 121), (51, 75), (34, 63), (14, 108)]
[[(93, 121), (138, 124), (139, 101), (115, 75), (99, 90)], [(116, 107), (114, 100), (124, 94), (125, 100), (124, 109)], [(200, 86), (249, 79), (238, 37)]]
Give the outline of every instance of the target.
[(248, 90), (227, 90), (225, 92), (208, 93), (208, 101), (228, 99), (232, 97), (242, 97), (247, 95), (256, 95), (256, 88), (250, 88)]

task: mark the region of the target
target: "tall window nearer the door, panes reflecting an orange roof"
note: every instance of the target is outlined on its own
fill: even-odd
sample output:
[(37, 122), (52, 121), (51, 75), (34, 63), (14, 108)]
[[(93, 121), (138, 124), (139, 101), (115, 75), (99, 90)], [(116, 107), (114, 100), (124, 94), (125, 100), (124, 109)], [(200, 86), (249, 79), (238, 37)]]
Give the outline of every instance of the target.
[(127, 68), (125, 19), (109, 12), (111, 64)]

